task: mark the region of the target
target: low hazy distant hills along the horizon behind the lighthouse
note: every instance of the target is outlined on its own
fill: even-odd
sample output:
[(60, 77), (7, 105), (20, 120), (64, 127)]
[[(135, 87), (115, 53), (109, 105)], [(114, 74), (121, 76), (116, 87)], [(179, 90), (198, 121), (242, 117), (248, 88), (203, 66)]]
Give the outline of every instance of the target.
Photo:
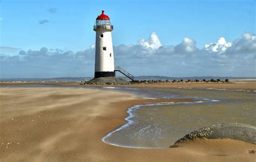
[[(130, 80), (126, 77), (120, 77), (126, 80)], [(62, 78), (4, 78), (0, 79), (0, 81), (89, 81), (93, 79), (92, 77), (62, 77)], [(134, 80), (236, 80), (236, 79), (256, 79), (256, 77), (231, 77), (231, 76), (193, 76), (193, 77), (170, 77), (170, 76), (158, 76), (158, 75), (150, 75), (150, 76), (135, 76)]]

